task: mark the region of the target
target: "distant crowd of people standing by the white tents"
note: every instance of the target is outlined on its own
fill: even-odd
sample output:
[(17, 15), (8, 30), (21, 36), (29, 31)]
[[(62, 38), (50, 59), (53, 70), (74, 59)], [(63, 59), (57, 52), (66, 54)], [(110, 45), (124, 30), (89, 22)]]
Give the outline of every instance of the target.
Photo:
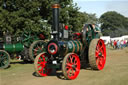
[(110, 45), (114, 49), (122, 49), (122, 48), (128, 47), (128, 41), (127, 40), (114, 40), (110, 42)]

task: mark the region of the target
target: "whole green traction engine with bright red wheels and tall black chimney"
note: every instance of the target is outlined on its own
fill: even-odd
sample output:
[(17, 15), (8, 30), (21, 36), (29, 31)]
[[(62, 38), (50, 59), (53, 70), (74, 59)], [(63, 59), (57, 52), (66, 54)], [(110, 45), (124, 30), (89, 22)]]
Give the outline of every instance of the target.
[(77, 78), (80, 68), (87, 65), (102, 70), (106, 62), (106, 47), (92, 24), (85, 24), (80, 33), (69, 34), (68, 29), (59, 27), (59, 4), (53, 4), (53, 39), (44, 45), (44, 51), (34, 61), (40, 76), (49, 75), (53, 69), (61, 70), (69, 80)]

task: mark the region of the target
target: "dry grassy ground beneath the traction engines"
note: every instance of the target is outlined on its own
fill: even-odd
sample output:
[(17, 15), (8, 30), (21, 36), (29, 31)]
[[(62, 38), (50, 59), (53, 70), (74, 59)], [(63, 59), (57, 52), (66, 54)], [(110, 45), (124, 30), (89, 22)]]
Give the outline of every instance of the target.
[(0, 85), (128, 85), (128, 49), (107, 49), (106, 66), (102, 71), (82, 69), (75, 80), (63, 80), (57, 73), (36, 77), (33, 64), (13, 61), (0, 70)]

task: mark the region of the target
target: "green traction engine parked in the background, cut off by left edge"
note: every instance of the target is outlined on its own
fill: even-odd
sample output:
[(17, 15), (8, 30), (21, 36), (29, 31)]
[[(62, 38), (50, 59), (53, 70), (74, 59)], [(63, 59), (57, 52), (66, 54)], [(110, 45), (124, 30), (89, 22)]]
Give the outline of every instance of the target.
[[(44, 34), (32, 34), (24, 31), (20, 37), (0, 32), (0, 69), (7, 68), (10, 59), (18, 58), (24, 62), (34, 61), (35, 56), (43, 51)], [(3, 34), (3, 35), (2, 35)]]

